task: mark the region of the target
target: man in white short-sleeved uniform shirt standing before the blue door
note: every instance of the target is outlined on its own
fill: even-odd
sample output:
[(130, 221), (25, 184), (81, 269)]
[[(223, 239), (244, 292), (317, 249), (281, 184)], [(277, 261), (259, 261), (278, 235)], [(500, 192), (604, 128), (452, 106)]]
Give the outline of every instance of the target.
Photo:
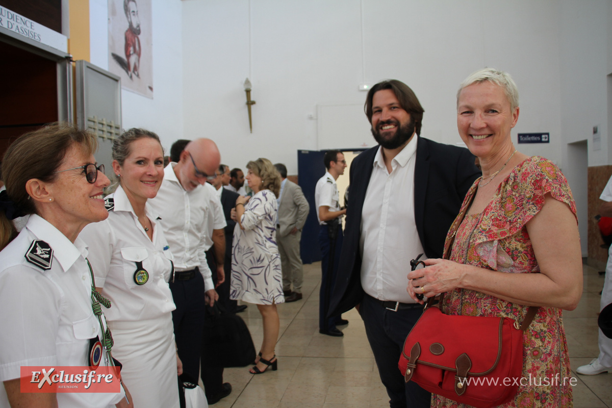
[(340, 150), (329, 150), (323, 157), (327, 169), (325, 175), (316, 182), (316, 215), (321, 224), (319, 246), (321, 247), (321, 290), (319, 291), (319, 333), (328, 336), (343, 336), (336, 325), (347, 324), (340, 316), (327, 318), (329, 300), (334, 293), (334, 283), (338, 272), (338, 261), (342, 248), (341, 218), (346, 209), (340, 209), (340, 193), (336, 180), (344, 174), (346, 160)]

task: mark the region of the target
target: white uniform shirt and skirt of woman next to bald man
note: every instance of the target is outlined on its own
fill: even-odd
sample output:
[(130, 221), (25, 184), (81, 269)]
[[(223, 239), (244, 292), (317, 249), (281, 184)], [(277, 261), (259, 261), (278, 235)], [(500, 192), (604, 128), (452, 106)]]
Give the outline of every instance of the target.
[(149, 239), (121, 185), (105, 205), (108, 218), (85, 226), (80, 238), (89, 244), (95, 283), (113, 304), (106, 310), (113, 356), (123, 364), (121, 375), (134, 406), (178, 407), (168, 242), (147, 202), (144, 211), (153, 227)]

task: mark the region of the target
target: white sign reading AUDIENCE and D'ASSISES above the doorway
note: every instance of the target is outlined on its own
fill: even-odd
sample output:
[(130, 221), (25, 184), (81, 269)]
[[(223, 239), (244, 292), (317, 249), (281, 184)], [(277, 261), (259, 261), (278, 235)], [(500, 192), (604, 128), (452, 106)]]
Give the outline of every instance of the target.
[(64, 53), (68, 51), (68, 41), (65, 35), (2, 6), (0, 6), (0, 27), (51, 46)]

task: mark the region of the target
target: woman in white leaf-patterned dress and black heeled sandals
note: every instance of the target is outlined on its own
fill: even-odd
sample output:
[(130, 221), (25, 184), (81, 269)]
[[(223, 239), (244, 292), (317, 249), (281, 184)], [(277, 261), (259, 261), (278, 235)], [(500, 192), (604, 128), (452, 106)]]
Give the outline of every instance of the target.
[(255, 193), (236, 199), (236, 228), (231, 260), (231, 293), (234, 300), (255, 303), (263, 317), (264, 339), (252, 374), (269, 366), (277, 369), (274, 346), (278, 339), (277, 303), (285, 302), (280, 256), (276, 243), (276, 218), (280, 175), (267, 158), (247, 164), (245, 177)]

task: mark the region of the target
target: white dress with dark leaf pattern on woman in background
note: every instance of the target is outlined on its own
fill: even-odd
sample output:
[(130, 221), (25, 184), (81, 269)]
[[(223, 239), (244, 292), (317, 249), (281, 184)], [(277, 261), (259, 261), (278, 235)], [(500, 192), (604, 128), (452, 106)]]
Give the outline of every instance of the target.
[(276, 196), (259, 191), (236, 223), (231, 255), (230, 298), (259, 305), (283, 303), (283, 276), (276, 243)]

